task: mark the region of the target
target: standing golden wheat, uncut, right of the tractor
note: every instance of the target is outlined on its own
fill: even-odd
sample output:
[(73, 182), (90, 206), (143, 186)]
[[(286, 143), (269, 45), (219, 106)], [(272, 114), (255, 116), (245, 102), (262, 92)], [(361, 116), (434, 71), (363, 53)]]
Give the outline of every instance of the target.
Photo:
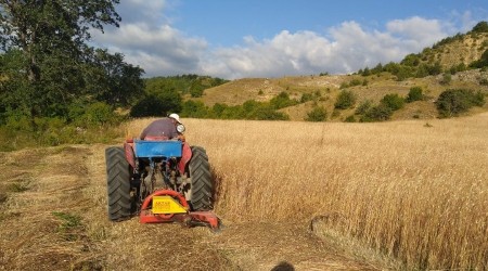
[[(152, 119), (132, 121), (137, 137)], [(227, 221), (326, 218), (408, 269), (488, 269), (488, 114), (331, 124), (183, 119)]]

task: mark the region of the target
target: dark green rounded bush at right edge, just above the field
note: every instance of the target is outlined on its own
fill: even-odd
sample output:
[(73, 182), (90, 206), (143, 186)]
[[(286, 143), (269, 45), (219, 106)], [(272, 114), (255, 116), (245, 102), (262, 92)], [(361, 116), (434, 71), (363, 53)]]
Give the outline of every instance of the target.
[(485, 95), (480, 91), (475, 93), (472, 90), (454, 89), (440, 93), (436, 107), (440, 117), (452, 117), (484, 104)]

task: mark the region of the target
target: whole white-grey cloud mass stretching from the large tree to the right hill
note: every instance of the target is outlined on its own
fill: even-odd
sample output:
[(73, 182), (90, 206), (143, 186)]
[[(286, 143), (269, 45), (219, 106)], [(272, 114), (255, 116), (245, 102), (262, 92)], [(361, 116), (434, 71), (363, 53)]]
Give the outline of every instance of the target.
[[(104, 35), (94, 34), (94, 40), (111, 51), (121, 52), (146, 76), (201, 74), (233, 79), (345, 74), (400, 61), (453, 31), (452, 24), (415, 16), (388, 22), (385, 30), (367, 30), (356, 22), (344, 22), (328, 29), (326, 36), (282, 30), (269, 39), (247, 36), (242, 44), (210, 49), (204, 38), (190, 37), (171, 26), (163, 16), (165, 1), (126, 0), (120, 7), (120, 27), (110, 28)], [(472, 22), (470, 14), (458, 17)]]

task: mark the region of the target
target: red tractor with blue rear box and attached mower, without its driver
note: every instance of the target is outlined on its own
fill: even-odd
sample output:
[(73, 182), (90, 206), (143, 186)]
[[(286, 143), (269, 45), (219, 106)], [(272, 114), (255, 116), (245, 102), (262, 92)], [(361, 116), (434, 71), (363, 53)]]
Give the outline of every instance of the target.
[(214, 182), (201, 146), (174, 140), (127, 140), (105, 150), (108, 219), (181, 222), (219, 229)]

